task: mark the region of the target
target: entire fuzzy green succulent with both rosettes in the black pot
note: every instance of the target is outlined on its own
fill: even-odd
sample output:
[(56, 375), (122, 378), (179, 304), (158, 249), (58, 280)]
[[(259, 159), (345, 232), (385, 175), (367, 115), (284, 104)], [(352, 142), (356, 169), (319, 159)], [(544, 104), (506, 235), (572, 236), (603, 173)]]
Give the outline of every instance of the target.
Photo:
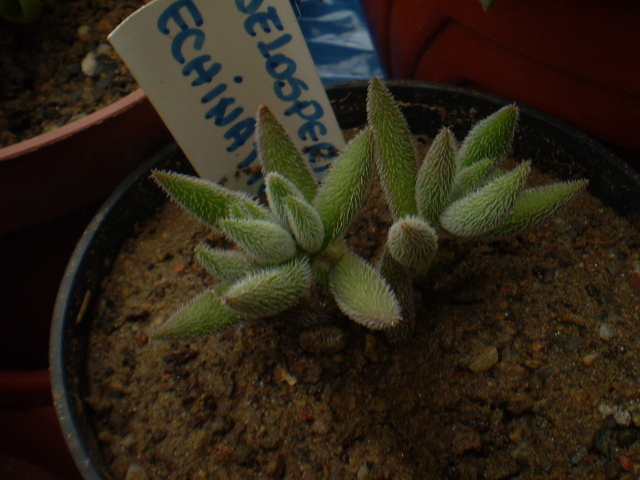
[[(182, 307), (153, 337), (203, 335), (278, 315), (321, 286), (353, 321), (385, 330), (391, 340), (404, 339), (415, 318), (413, 278), (428, 270), (439, 231), (474, 240), (513, 235), (546, 220), (586, 185), (527, 189), (529, 162), (496, 170), (513, 139), (514, 105), (477, 123), (459, 147), (443, 128), (419, 168), (400, 108), (375, 78), (367, 111), (369, 125), (318, 185), (287, 132), (262, 106), (256, 144), (267, 205), (197, 177), (153, 172), (170, 198), (236, 245), (196, 248), (196, 258), (219, 283)], [(379, 268), (343, 239), (376, 168), (394, 217)]]

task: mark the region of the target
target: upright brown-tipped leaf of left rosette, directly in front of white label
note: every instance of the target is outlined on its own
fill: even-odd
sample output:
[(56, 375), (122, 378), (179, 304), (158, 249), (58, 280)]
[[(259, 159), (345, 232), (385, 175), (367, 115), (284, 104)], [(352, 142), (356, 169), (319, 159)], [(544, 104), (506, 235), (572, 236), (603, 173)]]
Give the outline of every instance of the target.
[(313, 201), (316, 181), (293, 140), (266, 105), (258, 111), (256, 139), (263, 173), (280, 173), (302, 191), (307, 201)]

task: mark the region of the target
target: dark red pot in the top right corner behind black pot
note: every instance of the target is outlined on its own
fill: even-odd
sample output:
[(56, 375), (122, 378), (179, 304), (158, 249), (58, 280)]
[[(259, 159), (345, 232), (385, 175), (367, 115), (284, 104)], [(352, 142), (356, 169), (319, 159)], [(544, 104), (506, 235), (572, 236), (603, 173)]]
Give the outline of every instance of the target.
[(640, 170), (634, 0), (362, 2), (390, 78), (497, 93), (607, 142)]

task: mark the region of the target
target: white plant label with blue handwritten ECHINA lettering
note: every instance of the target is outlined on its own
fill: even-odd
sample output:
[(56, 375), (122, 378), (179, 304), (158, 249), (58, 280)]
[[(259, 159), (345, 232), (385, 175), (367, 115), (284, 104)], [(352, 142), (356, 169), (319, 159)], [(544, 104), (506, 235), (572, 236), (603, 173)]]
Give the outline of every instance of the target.
[(263, 103), (316, 174), (344, 147), (289, 0), (154, 0), (109, 41), (203, 178), (256, 191)]

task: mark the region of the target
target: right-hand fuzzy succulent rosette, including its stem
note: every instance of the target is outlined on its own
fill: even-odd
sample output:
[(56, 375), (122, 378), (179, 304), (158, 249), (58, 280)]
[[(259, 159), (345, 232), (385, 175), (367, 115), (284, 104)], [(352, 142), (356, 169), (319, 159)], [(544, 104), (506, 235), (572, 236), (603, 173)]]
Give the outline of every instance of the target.
[[(476, 123), (460, 146), (451, 130), (442, 128), (419, 169), (406, 120), (375, 78), (369, 84), (367, 111), (378, 173), (394, 216), (381, 264), (403, 302), (404, 321), (390, 332), (392, 339), (411, 330), (413, 297), (400, 292), (429, 268), (438, 249), (438, 229), (474, 240), (516, 235), (544, 222), (587, 185), (577, 180), (525, 188), (530, 162), (508, 172), (497, 169), (511, 149), (519, 117), (515, 105)], [(396, 172), (402, 172), (401, 179)]]

